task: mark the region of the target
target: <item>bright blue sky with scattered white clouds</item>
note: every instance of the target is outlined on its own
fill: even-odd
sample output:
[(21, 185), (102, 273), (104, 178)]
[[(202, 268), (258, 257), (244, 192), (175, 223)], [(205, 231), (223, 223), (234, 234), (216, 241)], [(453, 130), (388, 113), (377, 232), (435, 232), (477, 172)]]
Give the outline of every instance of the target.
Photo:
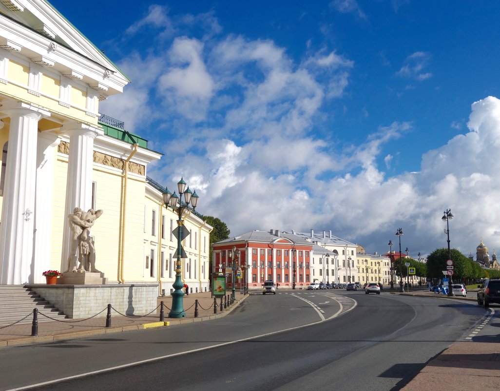
[(165, 154), (148, 175), (232, 234), (402, 227), (416, 257), (451, 208), (453, 247), (500, 244), (497, 2), (51, 4), (132, 80), (100, 111)]

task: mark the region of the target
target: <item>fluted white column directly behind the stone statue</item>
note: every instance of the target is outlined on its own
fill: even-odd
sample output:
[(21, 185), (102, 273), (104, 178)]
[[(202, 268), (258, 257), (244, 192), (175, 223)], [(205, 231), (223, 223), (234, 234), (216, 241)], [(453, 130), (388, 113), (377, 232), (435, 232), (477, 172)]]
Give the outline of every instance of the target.
[(67, 216), (75, 207), (88, 210), (92, 203), (93, 140), (102, 135), (101, 129), (82, 123), (65, 125), (62, 131), (69, 135), (69, 157), (66, 177), (66, 203), (62, 236), (61, 271), (68, 268), (69, 224)]

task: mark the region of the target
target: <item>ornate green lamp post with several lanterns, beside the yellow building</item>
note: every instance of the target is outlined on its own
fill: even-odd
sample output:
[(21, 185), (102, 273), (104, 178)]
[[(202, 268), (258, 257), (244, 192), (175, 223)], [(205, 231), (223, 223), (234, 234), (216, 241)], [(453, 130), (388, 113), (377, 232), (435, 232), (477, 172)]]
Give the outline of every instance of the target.
[[(198, 195), (196, 194), (196, 191), (192, 192), (189, 190), (189, 187), (186, 189), (186, 186), (187, 185), (184, 180), (180, 178), (180, 181), (177, 182), (177, 191), (179, 192), (178, 196), (175, 192), (171, 194), (166, 187), (165, 192), (163, 193), (163, 203), (165, 204), (165, 208), (170, 206), (172, 210), (177, 213), (178, 217), (177, 228), (173, 231), (174, 236), (177, 238), (177, 261), (175, 262), (175, 281), (172, 284), (174, 291), (171, 293), (172, 309), (168, 313), (169, 318), (183, 318), (186, 316), (183, 303), (184, 292), (182, 291), (182, 288), (184, 287), (184, 284), (182, 284), (181, 276), (181, 259), (187, 258), (187, 255), (182, 248), (182, 240), (189, 235), (189, 231), (184, 229), (183, 213), (189, 208), (189, 203), (191, 204), (193, 211), (198, 203)], [(182, 203), (182, 195), (184, 195), (184, 203)]]

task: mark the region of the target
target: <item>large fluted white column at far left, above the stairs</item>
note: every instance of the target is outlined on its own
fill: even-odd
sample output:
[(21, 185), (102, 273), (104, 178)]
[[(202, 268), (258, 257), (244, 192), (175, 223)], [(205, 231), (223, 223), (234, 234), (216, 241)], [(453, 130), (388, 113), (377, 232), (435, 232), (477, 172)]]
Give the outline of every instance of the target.
[(24, 103), (5, 112), (10, 128), (0, 224), (0, 283), (16, 285), (33, 281), (36, 141), (38, 120), (49, 113)]

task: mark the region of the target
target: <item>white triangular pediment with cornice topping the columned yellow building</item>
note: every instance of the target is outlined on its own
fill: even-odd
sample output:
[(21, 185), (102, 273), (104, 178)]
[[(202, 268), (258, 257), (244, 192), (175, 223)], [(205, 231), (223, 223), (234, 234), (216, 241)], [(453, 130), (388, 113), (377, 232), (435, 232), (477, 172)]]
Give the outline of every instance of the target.
[(0, 48), (80, 80), (105, 96), (121, 93), (125, 75), (44, 0), (0, 0)]

